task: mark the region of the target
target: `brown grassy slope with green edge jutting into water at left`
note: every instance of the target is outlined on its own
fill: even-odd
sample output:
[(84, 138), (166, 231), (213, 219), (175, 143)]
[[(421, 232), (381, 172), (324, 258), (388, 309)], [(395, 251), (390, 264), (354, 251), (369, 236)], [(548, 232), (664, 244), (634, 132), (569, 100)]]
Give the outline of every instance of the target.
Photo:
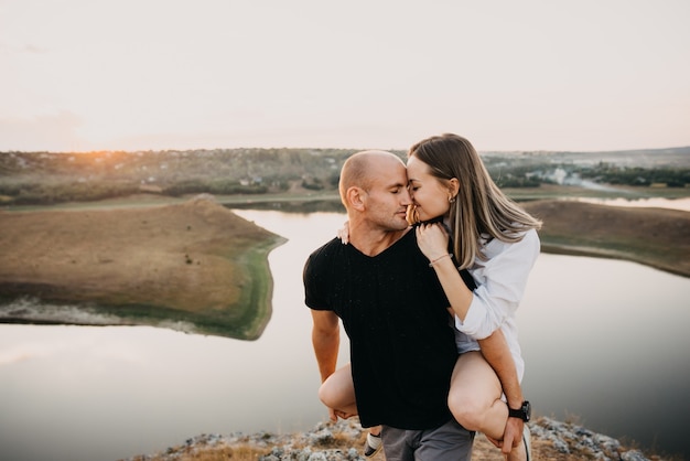
[(283, 242), (206, 200), (2, 213), (0, 296), (86, 303), (125, 324), (186, 322), (198, 333), (254, 340), (270, 319), (267, 255)]

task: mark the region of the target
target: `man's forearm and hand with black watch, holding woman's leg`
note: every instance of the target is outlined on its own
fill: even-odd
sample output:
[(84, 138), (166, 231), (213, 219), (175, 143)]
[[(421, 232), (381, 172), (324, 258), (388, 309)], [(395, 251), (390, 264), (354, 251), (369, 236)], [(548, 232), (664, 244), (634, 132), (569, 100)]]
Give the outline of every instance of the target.
[[(515, 361), (503, 331), (500, 329), (496, 330), (488, 337), (479, 340), (478, 343), (484, 358), (494, 368), (500, 380), (508, 407), (520, 408), (524, 400), (522, 388), (520, 387)], [(524, 422), (519, 418), (508, 418), (503, 435), (503, 442), (500, 443), (504, 453), (509, 453), (513, 447), (517, 447), (520, 443), (522, 425)]]

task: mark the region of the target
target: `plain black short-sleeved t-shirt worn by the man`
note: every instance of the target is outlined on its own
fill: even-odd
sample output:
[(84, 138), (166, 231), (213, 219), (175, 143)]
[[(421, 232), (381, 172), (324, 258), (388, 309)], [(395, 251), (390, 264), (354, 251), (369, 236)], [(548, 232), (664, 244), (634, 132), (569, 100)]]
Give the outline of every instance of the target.
[(414, 232), (375, 257), (335, 238), (312, 253), (303, 279), (306, 305), (343, 321), (364, 427), (431, 429), (452, 418), (450, 303)]

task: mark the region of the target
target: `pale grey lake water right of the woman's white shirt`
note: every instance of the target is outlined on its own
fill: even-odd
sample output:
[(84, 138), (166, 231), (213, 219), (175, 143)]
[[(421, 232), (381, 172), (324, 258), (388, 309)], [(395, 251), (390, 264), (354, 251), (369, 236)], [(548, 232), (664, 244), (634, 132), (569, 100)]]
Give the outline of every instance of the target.
[(540, 255), (518, 312), (537, 412), (687, 455), (689, 297), (688, 278)]

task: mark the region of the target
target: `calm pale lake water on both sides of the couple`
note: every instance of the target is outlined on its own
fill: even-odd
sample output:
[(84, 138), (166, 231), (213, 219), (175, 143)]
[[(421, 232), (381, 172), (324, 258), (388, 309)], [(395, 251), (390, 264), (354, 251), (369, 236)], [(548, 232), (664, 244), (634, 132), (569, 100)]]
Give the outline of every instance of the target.
[[(153, 328), (0, 325), (0, 459), (114, 461), (198, 433), (291, 432), (327, 417), (301, 270), (344, 215), (237, 213), (290, 239), (269, 257), (265, 334), (242, 342)], [(519, 311), (535, 412), (690, 459), (689, 297), (688, 278), (541, 255)]]

